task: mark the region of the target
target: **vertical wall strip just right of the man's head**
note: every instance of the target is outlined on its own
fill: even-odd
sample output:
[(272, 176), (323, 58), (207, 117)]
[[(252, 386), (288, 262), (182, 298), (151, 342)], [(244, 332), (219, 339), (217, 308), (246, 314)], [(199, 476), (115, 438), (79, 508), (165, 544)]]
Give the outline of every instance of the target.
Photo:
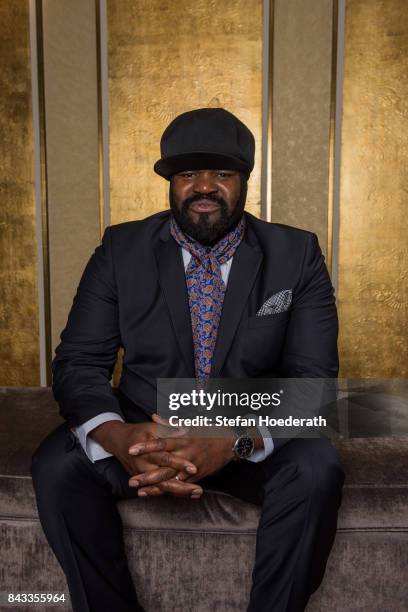
[(263, 3), (261, 218), (272, 219), (274, 0)]

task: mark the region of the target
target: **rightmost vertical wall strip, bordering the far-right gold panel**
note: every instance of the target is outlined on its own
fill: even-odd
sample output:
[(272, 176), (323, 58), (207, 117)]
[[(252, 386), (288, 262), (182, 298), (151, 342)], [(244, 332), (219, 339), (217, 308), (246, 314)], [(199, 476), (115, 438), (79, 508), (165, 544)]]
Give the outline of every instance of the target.
[(341, 172), (341, 132), (343, 118), (343, 84), (344, 84), (344, 47), (345, 47), (345, 21), (346, 0), (338, 0), (337, 17), (337, 44), (336, 44), (336, 97), (334, 117), (334, 146), (333, 146), (333, 176), (332, 176), (332, 219), (331, 219), (331, 247), (330, 267), (331, 279), (338, 292), (339, 283), (339, 238), (340, 238), (340, 172)]

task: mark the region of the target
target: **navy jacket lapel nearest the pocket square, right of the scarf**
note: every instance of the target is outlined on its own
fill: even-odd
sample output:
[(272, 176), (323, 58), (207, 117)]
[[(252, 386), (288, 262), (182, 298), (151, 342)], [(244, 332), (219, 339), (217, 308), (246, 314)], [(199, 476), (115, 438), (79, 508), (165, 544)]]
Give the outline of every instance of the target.
[(211, 378), (219, 376), (262, 259), (262, 251), (248, 223), (247, 235), (236, 250), (232, 261), (212, 360)]

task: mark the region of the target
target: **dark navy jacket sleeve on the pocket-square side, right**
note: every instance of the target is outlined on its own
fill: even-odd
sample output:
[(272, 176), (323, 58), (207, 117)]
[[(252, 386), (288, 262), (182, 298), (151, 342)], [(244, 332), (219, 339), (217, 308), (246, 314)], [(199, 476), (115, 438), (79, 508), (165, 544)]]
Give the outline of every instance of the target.
[[(310, 384), (301, 380), (291, 383), (294, 408), (302, 411), (302, 402), (306, 402), (308, 411), (327, 417), (334, 430), (337, 429), (335, 402), (339, 369), (337, 336), (334, 288), (317, 236), (310, 233), (299, 282), (293, 294), (281, 371), (284, 378), (320, 379), (315, 383), (310, 381)], [(288, 438), (274, 437), (275, 451), (287, 441)]]

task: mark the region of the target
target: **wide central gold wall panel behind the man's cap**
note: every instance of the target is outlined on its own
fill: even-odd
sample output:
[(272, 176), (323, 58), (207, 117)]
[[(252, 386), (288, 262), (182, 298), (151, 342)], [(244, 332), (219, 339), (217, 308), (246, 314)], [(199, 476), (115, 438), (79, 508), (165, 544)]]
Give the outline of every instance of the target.
[(111, 223), (168, 208), (153, 172), (178, 114), (223, 106), (254, 133), (247, 210), (260, 214), (262, 0), (108, 1)]

